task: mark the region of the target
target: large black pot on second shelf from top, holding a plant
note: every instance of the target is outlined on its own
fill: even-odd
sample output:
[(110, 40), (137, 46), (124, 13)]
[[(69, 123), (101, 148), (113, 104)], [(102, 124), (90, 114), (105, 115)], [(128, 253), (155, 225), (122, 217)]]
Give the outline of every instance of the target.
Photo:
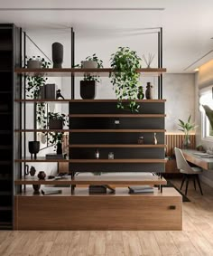
[(93, 100), (96, 97), (96, 81), (80, 81), (80, 97)]

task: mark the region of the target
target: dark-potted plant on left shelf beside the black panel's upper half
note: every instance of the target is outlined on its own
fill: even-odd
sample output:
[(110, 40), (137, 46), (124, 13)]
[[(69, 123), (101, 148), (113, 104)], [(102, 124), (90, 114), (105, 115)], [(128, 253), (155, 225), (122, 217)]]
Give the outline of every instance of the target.
[(62, 129), (66, 123), (68, 124), (65, 114), (48, 112), (48, 120), (50, 129)]

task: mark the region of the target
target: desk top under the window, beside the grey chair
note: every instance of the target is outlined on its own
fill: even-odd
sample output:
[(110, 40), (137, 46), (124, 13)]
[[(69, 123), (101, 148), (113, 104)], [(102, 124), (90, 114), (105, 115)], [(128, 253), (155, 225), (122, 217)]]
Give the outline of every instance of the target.
[(205, 170), (213, 170), (213, 158), (204, 158), (202, 156), (194, 155), (193, 153), (195, 152), (199, 153), (197, 150), (182, 149), (182, 154), (187, 161)]

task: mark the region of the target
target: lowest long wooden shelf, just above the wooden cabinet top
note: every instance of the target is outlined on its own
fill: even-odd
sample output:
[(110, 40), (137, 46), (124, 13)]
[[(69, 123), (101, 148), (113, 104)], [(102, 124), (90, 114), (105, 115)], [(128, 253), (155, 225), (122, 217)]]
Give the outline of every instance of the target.
[(14, 181), (15, 185), (166, 185), (167, 181), (164, 178), (152, 175), (80, 175), (73, 179), (45, 179), (39, 180), (35, 178), (22, 178)]

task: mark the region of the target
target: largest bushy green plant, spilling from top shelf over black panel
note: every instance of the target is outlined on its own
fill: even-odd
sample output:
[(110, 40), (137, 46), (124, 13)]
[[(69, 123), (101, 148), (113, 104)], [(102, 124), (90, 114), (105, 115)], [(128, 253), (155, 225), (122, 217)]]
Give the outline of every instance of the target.
[[(110, 74), (118, 100), (117, 108), (127, 107), (131, 112), (138, 112), (139, 105), (135, 100), (138, 99), (138, 92), (143, 95), (142, 88), (139, 90), (140, 73), (137, 69), (141, 68), (141, 58), (129, 47), (118, 47), (118, 51), (113, 53), (110, 58), (111, 67), (114, 72)], [(129, 100), (125, 106), (122, 100)]]

